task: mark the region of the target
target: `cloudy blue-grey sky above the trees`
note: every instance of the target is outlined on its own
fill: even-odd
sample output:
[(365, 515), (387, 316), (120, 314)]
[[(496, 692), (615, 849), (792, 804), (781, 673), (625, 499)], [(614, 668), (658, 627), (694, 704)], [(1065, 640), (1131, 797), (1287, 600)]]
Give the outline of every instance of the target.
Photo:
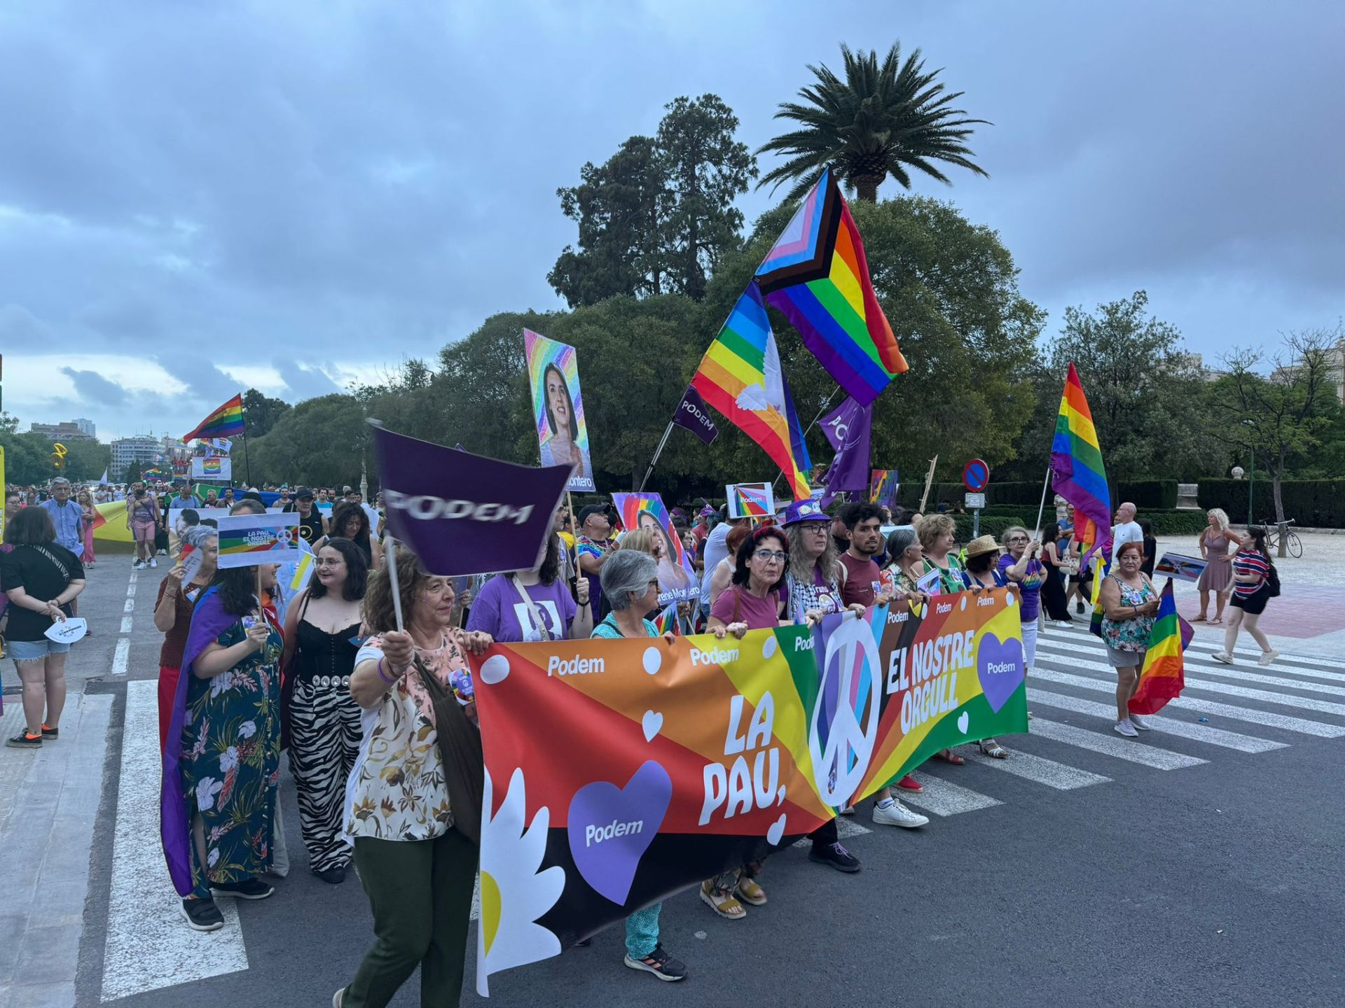
[(1334, 327), (1342, 32), (1310, 0), (5, 4), (4, 409), (182, 434), (562, 306), (558, 185), (679, 94), (757, 146), (841, 42), (921, 47), (994, 122), (990, 179), (917, 191), (1001, 231), (1050, 329), (1138, 288), (1210, 359)]

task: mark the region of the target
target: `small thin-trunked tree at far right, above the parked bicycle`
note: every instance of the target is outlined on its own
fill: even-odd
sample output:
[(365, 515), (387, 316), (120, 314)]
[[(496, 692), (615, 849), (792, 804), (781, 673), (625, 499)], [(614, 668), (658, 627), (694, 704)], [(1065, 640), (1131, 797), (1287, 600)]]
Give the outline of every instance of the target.
[[(1286, 333), (1268, 359), (1263, 349), (1233, 349), (1224, 356), (1225, 374), (1210, 388), (1209, 433), (1225, 445), (1255, 452), (1270, 470), (1276, 521), (1284, 520), (1280, 484), (1291, 462), (1306, 461), (1340, 422), (1332, 374), (1340, 341), (1340, 331), (1315, 329)], [(1274, 364), (1270, 375), (1262, 374), (1266, 363)]]

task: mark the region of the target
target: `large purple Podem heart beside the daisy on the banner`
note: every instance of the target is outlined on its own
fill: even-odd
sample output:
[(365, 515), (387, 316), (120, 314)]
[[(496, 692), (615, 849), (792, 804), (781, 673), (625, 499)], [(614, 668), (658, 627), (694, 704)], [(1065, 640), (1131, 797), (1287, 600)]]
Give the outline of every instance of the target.
[(570, 800), (566, 828), (580, 875), (617, 906), (625, 903), (640, 857), (654, 843), (672, 801), (672, 778), (652, 759), (624, 788), (585, 784)]

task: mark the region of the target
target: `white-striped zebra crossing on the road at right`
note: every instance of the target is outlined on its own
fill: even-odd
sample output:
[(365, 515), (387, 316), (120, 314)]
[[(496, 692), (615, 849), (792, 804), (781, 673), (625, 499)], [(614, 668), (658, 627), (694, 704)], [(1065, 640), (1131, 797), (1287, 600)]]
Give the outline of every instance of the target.
[(1025, 794), (1022, 788), (1069, 792), (1114, 784), (1122, 773), (1181, 771), (1264, 755), (1303, 745), (1303, 735), (1345, 735), (1345, 702), (1326, 699), (1345, 698), (1345, 663), (1286, 655), (1259, 665), (1259, 650), (1241, 649), (1233, 665), (1224, 665), (1213, 660), (1216, 650), (1193, 641), (1182, 695), (1146, 719), (1150, 731), (1127, 739), (1112, 731), (1116, 676), (1102, 642), (1081, 625), (1046, 628), (1028, 675), (1029, 731), (1001, 738), (1009, 758), (963, 746), (968, 766), (994, 773), (959, 780), (962, 767), (931, 762), (913, 774), (924, 790), (902, 793), (901, 801), (931, 816), (958, 816), (1013, 804)]

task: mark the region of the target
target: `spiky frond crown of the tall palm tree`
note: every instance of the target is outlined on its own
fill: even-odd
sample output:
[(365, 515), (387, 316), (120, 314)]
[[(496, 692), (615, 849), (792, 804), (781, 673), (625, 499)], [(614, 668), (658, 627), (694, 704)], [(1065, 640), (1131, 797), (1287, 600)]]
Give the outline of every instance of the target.
[(939, 71), (925, 73), (920, 50), (902, 63), (901, 43), (894, 43), (881, 67), (873, 50), (855, 54), (842, 44), (841, 55), (845, 81), (826, 66), (810, 66), (818, 79), (799, 89), (806, 103), (780, 103), (775, 117), (794, 120), (800, 129), (777, 136), (757, 151), (790, 159), (764, 175), (757, 188), (773, 183), (773, 191), (780, 183), (798, 180), (790, 199), (799, 199), (830, 164), (859, 199), (876, 203), (878, 185), (889, 175), (911, 188), (908, 167), (948, 184), (936, 161), (987, 175), (971, 160), (971, 148), (964, 141), (972, 125), (990, 124), (966, 118), (962, 109), (950, 108), (963, 93), (946, 94), (944, 86), (935, 82)]

